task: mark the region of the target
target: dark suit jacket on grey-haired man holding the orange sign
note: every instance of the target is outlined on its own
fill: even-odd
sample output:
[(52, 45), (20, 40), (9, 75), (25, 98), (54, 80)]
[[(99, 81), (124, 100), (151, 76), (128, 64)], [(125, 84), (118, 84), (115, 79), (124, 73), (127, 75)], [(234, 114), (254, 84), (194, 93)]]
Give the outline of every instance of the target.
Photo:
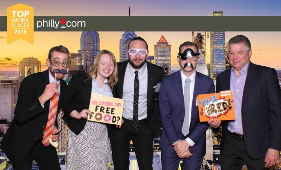
[[(216, 91), (230, 89), (231, 68), (217, 76)], [(245, 147), (254, 159), (268, 148), (281, 149), (281, 90), (275, 69), (250, 62), (242, 97)], [(222, 123), (220, 153), (224, 151), (228, 121)]]

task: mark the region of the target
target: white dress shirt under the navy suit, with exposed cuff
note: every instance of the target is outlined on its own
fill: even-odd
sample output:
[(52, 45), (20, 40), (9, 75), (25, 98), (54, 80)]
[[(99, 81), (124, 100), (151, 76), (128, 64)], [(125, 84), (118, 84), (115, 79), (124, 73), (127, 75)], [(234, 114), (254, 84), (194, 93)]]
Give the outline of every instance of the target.
[[(182, 71), (181, 72), (181, 78), (182, 78), (182, 92), (184, 94), (184, 85), (185, 85), (185, 79), (189, 78), (191, 80), (190, 82), (190, 99), (189, 99), (189, 127), (190, 127), (190, 121), (191, 121), (191, 109), (192, 109), (192, 100), (193, 100), (193, 92), (194, 92), (194, 85), (195, 85), (195, 76), (196, 76), (196, 71), (190, 76), (190, 77), (186, 77)], [(187, 138), (185, 139), (190, 146), (193, 146), (195, 143), (190, 139)]]

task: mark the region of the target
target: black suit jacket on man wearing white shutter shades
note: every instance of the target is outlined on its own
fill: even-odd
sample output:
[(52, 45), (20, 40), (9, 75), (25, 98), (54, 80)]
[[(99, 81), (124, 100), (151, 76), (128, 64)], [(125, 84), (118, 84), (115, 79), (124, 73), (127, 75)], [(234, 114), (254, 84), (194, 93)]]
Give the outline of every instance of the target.
[[(128, 64), (128, 60), (117, 63), (118, 66), (118, 83), (115, 85), (114, 97), (122, 98), (123, 97), (123, 85), (124, 77)], [(147, 125), (153, 129), (154, 136), (159, 137), (162, 133), (161, 127), (161, 118), (158, 104), (158, 93), (154, 93), (154, 86), (157, 83), (161, 83), (162, 78), (164, 77), (164, 69), (155, 64), (146, 62), (147, 65)]]

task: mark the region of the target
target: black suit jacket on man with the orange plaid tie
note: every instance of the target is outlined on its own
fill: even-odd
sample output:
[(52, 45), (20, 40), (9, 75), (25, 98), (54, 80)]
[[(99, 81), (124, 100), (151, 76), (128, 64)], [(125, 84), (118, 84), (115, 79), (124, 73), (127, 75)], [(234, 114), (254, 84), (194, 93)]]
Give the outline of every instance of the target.
[[(41, 106), (40, 97), (49, 84), (49, 70), (27, 76), (21, 82), (18, 101), (15, 108), (15, 117), (10, 123), (8, 131), (1, 141), (0, 148), (12, 162), (21, 160), (35, 145), (45, 130), (48, 121), (50, 100)], [(60, 97), (57, 115), (61, 108), (66, 83), (60, 81)], [(57, 125), (57, 119), (55, 122)]]

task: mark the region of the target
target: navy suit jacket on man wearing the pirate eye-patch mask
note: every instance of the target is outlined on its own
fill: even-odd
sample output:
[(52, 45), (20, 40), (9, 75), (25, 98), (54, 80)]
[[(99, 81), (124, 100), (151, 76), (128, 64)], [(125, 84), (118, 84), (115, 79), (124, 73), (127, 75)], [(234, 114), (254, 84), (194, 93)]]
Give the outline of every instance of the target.
[(182, 90), (182, 78), (180, 71), (164, 77), (159, 91), (159, 106), (162, 120), (162, 135), (160, 137), (161, 150), (173, 153), (172, 143), (179, 139), (189, 137), (195, 145), (192, 146), (200, 156), (206, 152), (205, 133), (209, 125), (199, 121), (196, 98), (198, 94), (215, 93), (213, 80), (201, 73), (196, 72), (195, 86), (191, 108), (191, 123), (189, 134), (182, 135), (184, 120), (184, 97)]

